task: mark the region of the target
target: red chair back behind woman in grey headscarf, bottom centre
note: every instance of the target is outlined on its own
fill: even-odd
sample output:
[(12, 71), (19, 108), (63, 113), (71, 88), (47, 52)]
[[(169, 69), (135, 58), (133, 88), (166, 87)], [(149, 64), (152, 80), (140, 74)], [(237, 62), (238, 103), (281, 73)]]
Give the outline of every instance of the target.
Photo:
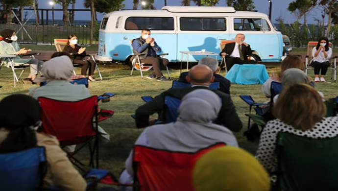
[(215, 143), (192, 153), (135, 145), (134, 183), (140, 191), (194, 191), (194, 164), (204, 153), (224, 145)]

